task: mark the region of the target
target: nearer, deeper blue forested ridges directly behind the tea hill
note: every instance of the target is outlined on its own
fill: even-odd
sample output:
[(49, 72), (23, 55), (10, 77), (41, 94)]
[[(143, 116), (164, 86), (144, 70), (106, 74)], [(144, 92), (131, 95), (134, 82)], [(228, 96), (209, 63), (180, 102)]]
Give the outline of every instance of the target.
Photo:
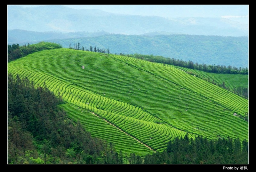
[(248, 67), (248, 36), (224, 37), (205, 35), (169, 34), (152, 32), (145, 35), (110, 34), (107, 32), (32, 32), (8, 31), (8, 44), (34, 44), (54, 42), (68, 48), (80, 43), (80, 48), (109, 48), (113, 54), (159, 55), (210, 65)]

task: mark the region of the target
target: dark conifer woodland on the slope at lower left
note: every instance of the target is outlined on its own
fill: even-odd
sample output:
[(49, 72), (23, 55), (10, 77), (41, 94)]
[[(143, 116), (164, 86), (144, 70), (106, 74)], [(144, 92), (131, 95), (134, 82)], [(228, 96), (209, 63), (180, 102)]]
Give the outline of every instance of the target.
[(69, 120), (46, 87), (8, 75), (8, 163), (121, 163), (109, 145)]

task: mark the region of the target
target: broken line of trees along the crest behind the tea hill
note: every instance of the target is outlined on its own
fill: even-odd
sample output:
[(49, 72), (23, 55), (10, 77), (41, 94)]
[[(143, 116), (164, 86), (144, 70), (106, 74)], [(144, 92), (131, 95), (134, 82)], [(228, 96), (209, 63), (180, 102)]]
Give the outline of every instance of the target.
[[(8, 61), (12, 61), (15, 59), (18, 59), (20, 57), (24, 57), (28, 54), (37, 52), (37, 51), (42, 51), (46, 49), (54, 49), (54, 48), (62, 48), (60, 44), (55, 44), (55, 43), (50, 43), (50, 42), (40, 42), (38, 44), (32, 44), (30, 45), (23, 45), (20, 46), (19, 44), (12, 44), (12, 45), (7, 45), (8, 47)], [(75, 43), (74, 48), (71, 46), (71, 43), (69, 44), (70, 49), (76, 49), (76, 50), (82, 50), (82, 51), (91, 51), (91, 52), (98, 52), (98, 53), (110, 53), (109, 48), (105, 49), (102, 48), (100, 49), (99, 47), (90, 46), (89, 48), (87, 47), (81, 47), (81, 44)], [(125, 55), (120, 53), (120, 55)], [(225, 66), (225, 65), (207, 65), (207, 64), (199, 64), (199, 63), (194, 63), (193, 61), (183, 61), (181, 60), (176, 60), (174, 58), (167, 58), (163, 56), (153, 56), (151, 55), (143, 55), (143, 54), (127, 54), (125, 56), (128, 57), (134, 57), (142, 60), (147, 60), (151, 62), (157, 62), (157, 63), (163, 63), (163, 64), (170, 64), (174, 66), (179, 66), (179, 67), (185, 67), (185, 68), (190, 68), (190, 69), (196, 69), (204, 72), (210, 72), (210, 73), (222, 73), (222, 74), (243, 74), (243, 75), (248, 75), (249, 70), (248, 68), (244, 67), (235, 67), (235, 66)]]

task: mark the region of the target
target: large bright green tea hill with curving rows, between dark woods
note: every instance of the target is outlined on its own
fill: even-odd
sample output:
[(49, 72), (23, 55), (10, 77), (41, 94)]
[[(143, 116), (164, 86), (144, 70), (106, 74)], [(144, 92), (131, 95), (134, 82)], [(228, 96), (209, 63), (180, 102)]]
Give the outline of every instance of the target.
[(8, 73), (61, 96), (69, 118), (124, 154), (161, 152), (186, 134), (248, 140), (238, 117), (248, 100), (175, 67), (62, 48), (12, 61)]

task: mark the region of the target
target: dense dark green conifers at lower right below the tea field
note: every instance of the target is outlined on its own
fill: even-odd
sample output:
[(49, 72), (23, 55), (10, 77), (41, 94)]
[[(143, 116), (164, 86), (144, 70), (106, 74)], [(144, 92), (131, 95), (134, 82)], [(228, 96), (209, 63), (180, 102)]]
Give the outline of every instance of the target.
[(248, 164), (248, 141), (239, 138), (219, 138), (216, 141), (201, 136), (196, 139), (175, 138), (163, 153), (144, 157), (144, 164)]

